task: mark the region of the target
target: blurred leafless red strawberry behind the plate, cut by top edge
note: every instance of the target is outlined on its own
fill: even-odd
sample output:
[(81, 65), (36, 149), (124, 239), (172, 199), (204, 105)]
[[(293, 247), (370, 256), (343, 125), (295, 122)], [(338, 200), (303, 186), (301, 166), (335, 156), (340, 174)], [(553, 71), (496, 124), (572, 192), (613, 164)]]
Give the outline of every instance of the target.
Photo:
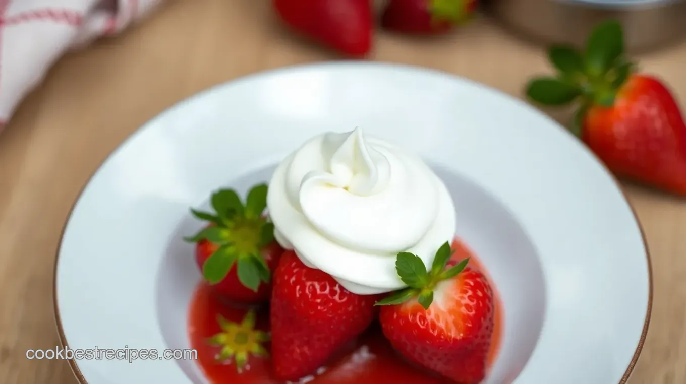
[(272, 0), (292, 29), (350, 56), (365, 56), (372, 47), (369, 0)]

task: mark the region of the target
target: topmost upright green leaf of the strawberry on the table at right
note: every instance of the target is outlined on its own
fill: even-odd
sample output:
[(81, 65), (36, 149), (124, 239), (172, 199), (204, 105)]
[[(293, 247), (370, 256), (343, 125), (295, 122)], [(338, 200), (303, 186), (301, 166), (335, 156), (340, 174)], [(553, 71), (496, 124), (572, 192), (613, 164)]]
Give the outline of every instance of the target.
[(624, 34), (619, 21), (606, 21), (593, 29), (586, 43), (586, 69), (602, 76), (624, 53)]

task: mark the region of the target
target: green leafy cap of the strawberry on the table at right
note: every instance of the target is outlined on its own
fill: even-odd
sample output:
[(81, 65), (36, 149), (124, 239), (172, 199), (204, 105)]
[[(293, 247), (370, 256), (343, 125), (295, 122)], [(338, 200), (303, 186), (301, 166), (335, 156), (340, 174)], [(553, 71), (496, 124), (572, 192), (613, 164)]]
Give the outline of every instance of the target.
[(624, 52), (624, 32), (618, 21), (596, 26), (589, 34), (584, 51), (567, 45), (548, 49), (548, 59), (556, 76), (535, 77), (525, 93), (543, 106), (563, 106), (578, 102), (571, 131), (580, 135), (582, 119), (591, 106), (611, 107), (617, 92), (635, 72), (635, 63)]

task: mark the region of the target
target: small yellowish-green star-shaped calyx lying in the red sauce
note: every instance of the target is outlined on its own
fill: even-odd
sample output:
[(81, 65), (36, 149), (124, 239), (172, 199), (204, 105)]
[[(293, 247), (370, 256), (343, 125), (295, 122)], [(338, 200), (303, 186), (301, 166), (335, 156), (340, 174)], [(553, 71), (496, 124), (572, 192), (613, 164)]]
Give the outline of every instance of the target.
[(262, 343), (270, 341), (270, 335), (255, 329), (254, 311), (248, 311), (240, 324), (229, 322), (222, 315), (217, 315), (217, 322), (221, 332), (210, 337), (207, 343), (220, 348), (215, 357), (218, 362), (226, 363), (233, 359), (236, 370), (240, 373), (246, 367), (250, 355), (269, 356)]

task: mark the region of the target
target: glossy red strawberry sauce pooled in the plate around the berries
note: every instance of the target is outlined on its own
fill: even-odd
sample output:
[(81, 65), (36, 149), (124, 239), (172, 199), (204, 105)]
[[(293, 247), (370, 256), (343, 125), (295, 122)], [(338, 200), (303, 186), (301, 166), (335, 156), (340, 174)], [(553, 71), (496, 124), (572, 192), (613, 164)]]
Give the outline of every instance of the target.
[[(453, 241), (453, 258), (464, 259), (471, 257), (469, 264), (482, 269), (473, 252), (459, 239)], [(484, 271), (485, 272), (485, 271)], [(488, 275), (487, 275), (488, 276)], [(491, 284), (493, 285), (493, 284)], [(494, 288), (495, 291), (495, 288)], [(495, 331), (491, 345), (489, 363), (495, 361), (500, 348), (502, 324), (502, 305), (499, 297), (495, 297)], [(189, 313), (189, 336), (191, 348), (198, 350), (198, 365), (204, 371), (206, 379), (213, 384), (276, 384), (279, 381), (270, 376), (268, 359), (248, 357), (248, 367), (239, 374), (234, 365), (222, 364), (215, 361), (219, 348), (209, 346), (206, 340), (220, 333), (217, 315), (222, 315), (230, 322), (240, 323), (246, 309), (230, 307), (214, 296), (209, 285), (198, 287)], [(269, 329), (269, 315), (267, 309), (257, 312), (255, 328), (262, 331)], [(265, 348), (269, 349), (269, 345)], [(365, 384), (365, 383), (403, 383), (403, 384), (445, 384), (445, 381), (414, 368), (395, 355), (390, 344), (383, 338), (377, 324), (366, 331), (349, 348), (334, 359), (332, 363), (318, 374), (312, 383), (317, 384)]]

